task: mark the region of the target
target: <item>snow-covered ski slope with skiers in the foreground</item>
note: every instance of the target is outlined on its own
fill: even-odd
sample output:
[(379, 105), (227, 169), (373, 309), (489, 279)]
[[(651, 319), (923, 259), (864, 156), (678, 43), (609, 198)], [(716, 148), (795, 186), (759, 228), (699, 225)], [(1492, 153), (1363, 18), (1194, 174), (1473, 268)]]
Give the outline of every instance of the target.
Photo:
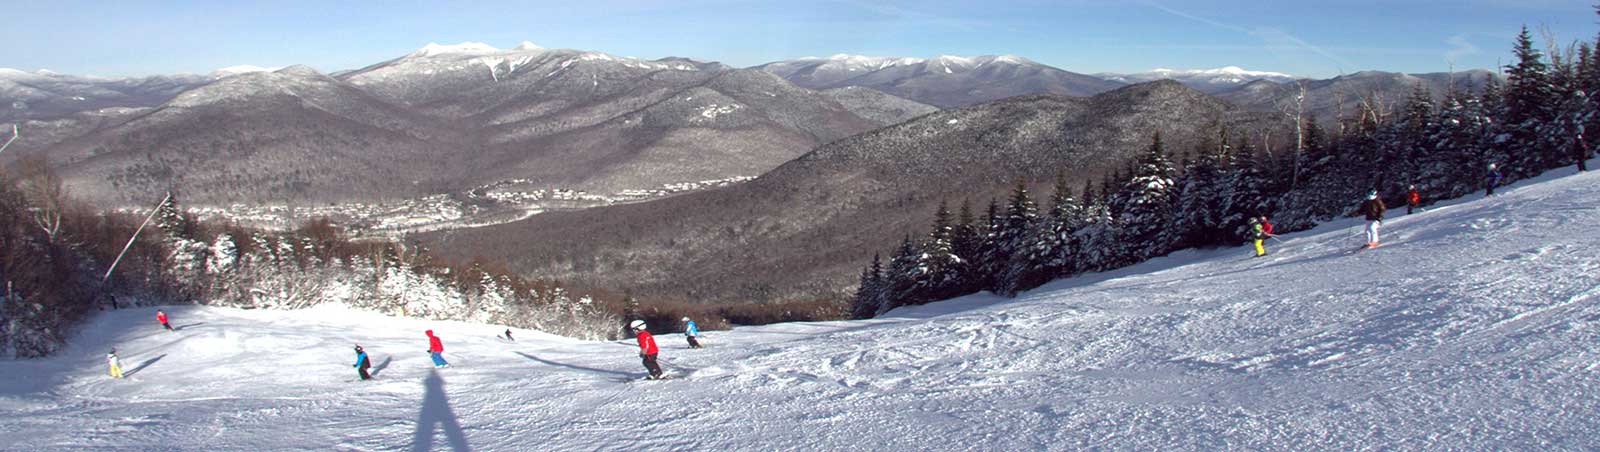
[[(339, 308), (96, 317), (0, 361), (5, 450), (1581, 450), (1600, 175), (861, 322), (630, 343)], [(424, 329), (454, 367), (429, 365)], [(352, 343), (378, 364), (354, 381)], [(106, 378), (122, 351), (130, 377)]]

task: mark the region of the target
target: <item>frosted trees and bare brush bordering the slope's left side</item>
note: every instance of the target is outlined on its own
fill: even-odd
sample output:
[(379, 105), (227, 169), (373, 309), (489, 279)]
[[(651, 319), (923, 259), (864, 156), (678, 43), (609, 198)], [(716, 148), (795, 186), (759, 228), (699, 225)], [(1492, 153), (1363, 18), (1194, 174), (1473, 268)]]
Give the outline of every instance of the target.
[(328, 220), (293, 231), (205, 224), (176, 196), (141, 229), (144, 215), (70, 202), (42, 160), (18, 167), (21, 176), (0, 172), (0, 354), (48, 356), (91, 313), (170, 303), (266, 309), (342, 303), (576, 338), (619, 335), (616, 301), (515, 277), (482, 260), (450, 263), (421, 245), (355, 242)]

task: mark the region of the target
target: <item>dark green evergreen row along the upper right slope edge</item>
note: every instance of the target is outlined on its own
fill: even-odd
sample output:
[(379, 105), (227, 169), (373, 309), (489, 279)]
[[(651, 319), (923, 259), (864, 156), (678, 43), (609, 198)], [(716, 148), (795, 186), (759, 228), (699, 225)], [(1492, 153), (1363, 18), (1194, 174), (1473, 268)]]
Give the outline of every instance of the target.
[(1566, 165), (1587, 170), (1595, 139), (1582, 130), (1600, 122), (1590, 96), (1600, 90), (1595, 43), (1541, 51), (1523, 27), (1504, 82), (1490, 75), (1477, 91), (1442, 96), (1418, 83), (1398, 107), (1362, 96), (1334, 130), (1294, 114), (1294, 152), (1264, 152), (1221, 125), (1173, 152), (1157, 131), (1128, 168), (1098, 184), (1074, 188), (1058, 175), (1043, 207), (1022, 180), (982, 218), (970, 202), (955, 213), (941, 204), (926, 236), (906, 236), (888, 261), (875, 255), (862, 269), (850, 314), (981, 290), (1014, 297), (1181, 248), (1235, 245), (1253, 216), (1302, 231), (1354, 215), (1370, 191), (1389, 204), (1403, 202), (1410, 186), (1422, 204), (1454, 199), (1480, 189), (1490, 163), (1504, 183)]

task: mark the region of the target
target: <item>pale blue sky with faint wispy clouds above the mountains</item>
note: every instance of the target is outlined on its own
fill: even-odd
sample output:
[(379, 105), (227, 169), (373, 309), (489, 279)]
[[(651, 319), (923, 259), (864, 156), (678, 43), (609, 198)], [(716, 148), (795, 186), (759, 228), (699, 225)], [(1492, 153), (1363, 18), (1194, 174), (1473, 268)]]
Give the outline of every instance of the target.
[(429, 42), (528, 40), (733, 66), (1011, 53), (1074, 72), (1242, 66), (1331, 77), (1494, 67), (1522, 24), (1592, 40), (1589, 0), (80, 2), (5, 0), (0, 67), (106, 77), (355, 69)]

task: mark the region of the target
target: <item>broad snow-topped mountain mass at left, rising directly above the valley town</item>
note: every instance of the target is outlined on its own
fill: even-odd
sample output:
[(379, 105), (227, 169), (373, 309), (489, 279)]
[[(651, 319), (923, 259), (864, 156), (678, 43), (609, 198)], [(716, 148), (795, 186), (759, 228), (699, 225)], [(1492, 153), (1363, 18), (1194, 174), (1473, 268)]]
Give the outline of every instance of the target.
[[(819, 144), (936, 111), (717, 63), (528, 43), (427, 45), (338, 75), (306, 66), (237, 72), (163, 85), (176, 91), (165, 98), (104, 95), (117, 109), (53, 109), (53, 119), (24, 123), (13, 149), (48, 155), (75, 196), (112, 204), (166, 189), (206, 204), (360, 202), (501, 180), (614, 192), (755, 176)], [(37, 98), (72, 106), (59, 98), (106, 83), (138, 85), (59, 82), (50, 87), (62, 93)], [(34, 104), (26, 111), (45, 117)]]

